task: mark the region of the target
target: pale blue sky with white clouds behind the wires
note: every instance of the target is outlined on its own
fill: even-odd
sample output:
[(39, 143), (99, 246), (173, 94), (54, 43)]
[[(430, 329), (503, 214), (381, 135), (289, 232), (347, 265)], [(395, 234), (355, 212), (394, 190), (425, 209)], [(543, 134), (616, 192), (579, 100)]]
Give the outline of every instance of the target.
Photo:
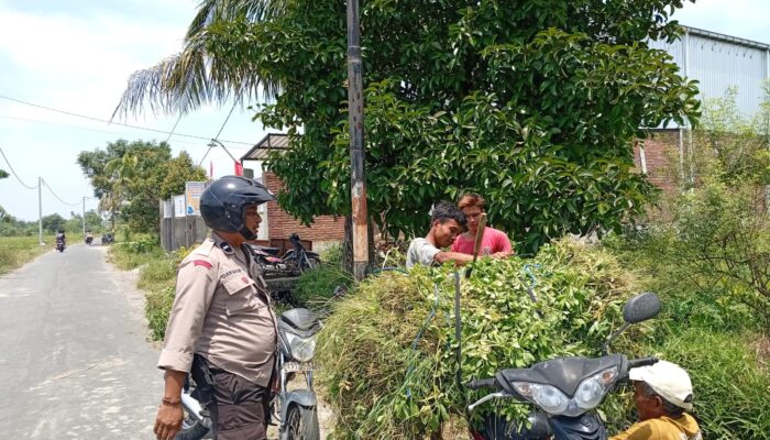
[[(13, 175), (0, 179), (0, 206), (19, 219), (37, 220), (37, 190), (26, 187), (36, 186), (42, 177), (43, 216), (58, 212), (69, 218), (82, 210), (84, 200), (86, 210), (95, 209), (92, 188), (76, 163), (79, 152), (103, 150), (118, 139), (168, 139), (165, 133), (63, 112), (109, 120), (133, 72), (179, 51), (196, 4), (195, 0), (0, 0), (0, 148), (21, 179)], [(770, 44), (770, 0), (685, 1), (673, 19)], [(207, 139), (217, 135), (230, 109), (230, 105), (205, 108), (179, 120), (177, 114), (144, 112), (120, 122), (170, 132), (178, 120), (177, 135), (169, 139), (174, 155), (185, 150), (207, 170), (212, 165), (215, 177), (220, 177), (232, 174), (232, 161), (221, 147), (207, 155)], [(265, 133), (251, 121), (251, 111), (239, 107), (219, 140), (240, 157)], [(10, 172), (2, 156), (0, 168)]]

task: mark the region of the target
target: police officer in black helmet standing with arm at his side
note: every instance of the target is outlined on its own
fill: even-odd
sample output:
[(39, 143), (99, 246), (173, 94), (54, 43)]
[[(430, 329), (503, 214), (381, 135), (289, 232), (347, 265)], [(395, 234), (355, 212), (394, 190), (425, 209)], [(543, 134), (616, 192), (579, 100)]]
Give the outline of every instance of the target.
[(244, 244), (256, 239), (256, 207), (274, 197), (255, 180), (227, 176), (200, 196), (211, 238), (179, 265), (176, 296), (157, 363), (165, 393), (154, 431), (174, 439), (190, 372), (218, 440), (262, 440), (275, 369), (276, 323), (264, 279)]

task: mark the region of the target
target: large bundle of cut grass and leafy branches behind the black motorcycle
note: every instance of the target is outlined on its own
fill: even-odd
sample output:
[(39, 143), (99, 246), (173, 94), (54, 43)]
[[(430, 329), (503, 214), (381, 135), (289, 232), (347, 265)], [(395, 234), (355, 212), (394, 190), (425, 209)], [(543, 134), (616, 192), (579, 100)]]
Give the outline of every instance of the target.
[[(449, 266), (385, 273), (336, 304), (318, 353), (336, 438), (421, 439), (461, 419), (481, 396), (455, 381), (454, 279)], [(463, 381), (556, 356), (597, 355), (636, 286), (612, 254), (569, 240), (532, 260), (480, 261), (461, 279)], [(497, 410), (520, 418), (528, 408)]]

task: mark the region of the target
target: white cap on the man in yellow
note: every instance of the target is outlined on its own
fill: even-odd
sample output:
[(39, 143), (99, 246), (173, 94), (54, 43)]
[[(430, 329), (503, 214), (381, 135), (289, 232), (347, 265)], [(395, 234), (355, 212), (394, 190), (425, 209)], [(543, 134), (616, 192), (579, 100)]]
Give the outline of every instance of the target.
[(628, 377), (646, 383), (660, 397), (680, 408), (693, 409), (693, 384), (690, 382), (690, 375), (674, 363), (658, 361), (652, 365), (631, 369)]

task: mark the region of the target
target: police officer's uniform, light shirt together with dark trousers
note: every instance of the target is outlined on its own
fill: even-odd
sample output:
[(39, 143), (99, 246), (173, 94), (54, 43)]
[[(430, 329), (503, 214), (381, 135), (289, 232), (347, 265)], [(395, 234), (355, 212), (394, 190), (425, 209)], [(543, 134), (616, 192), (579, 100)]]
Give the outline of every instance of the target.
[(208, 409), (219, 440), (265, 438), (277, 328), (264, 279), (246, 252), (212, 232), (182, 262), (157, 363), (190, 372), (197, 354), (196, 382), (198, 363), (210, 369), (216, 405)]

